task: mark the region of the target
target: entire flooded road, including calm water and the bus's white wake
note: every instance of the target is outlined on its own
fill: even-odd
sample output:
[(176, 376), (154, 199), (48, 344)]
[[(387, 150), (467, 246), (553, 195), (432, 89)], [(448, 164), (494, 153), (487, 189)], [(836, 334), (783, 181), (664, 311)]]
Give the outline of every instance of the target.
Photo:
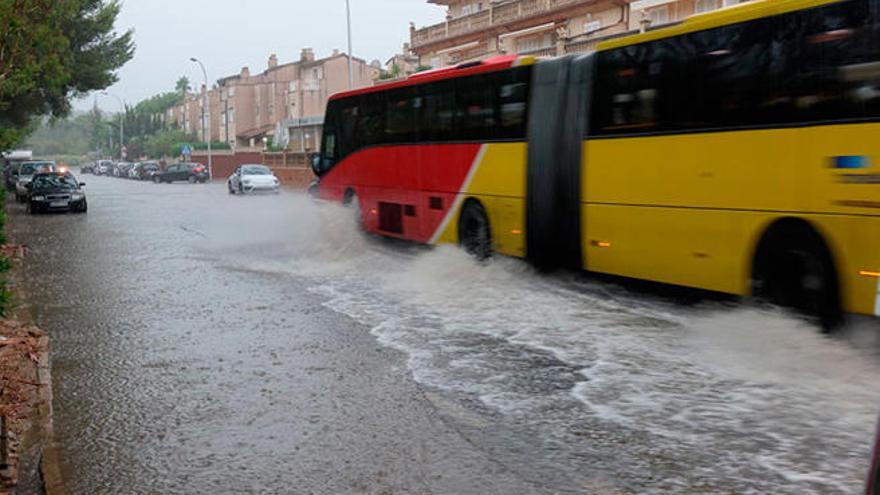
[(85, 176), (28, 217), (72, 493), (858, 493), (880, 325), (364, 238), (297, 194)]

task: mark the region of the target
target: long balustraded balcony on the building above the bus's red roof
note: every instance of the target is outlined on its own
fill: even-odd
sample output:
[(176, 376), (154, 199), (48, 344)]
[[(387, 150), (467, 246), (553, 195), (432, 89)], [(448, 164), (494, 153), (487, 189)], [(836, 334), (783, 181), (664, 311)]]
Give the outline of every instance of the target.
[(432, 43), (462, 36), (470, 33), (486, 31), (495, 27), (504, 27), (516, 21), (551, 14), (555, 11), (578, 5), (596, 3), (595, 0), (508, 0), (490, 4), (489, 8), (440, 24), (413, 30), (411, 44), (420, 48)]

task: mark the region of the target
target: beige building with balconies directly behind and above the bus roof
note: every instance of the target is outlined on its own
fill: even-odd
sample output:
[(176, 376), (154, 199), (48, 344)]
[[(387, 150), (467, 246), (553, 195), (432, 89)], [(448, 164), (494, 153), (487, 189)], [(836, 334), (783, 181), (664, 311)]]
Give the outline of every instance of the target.
[(443, 22), (416, 28), (410, 44), (423, 66), (446, 67), (501, 54), (563, 55), (747, 0), (428, 0)]

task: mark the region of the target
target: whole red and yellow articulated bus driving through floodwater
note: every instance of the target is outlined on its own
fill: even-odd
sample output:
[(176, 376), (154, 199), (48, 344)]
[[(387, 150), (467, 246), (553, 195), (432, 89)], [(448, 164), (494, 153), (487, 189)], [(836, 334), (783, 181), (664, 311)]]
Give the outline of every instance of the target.
[(365, 230), (880, 314), (880, 0), (764, 0), (331, 98)]

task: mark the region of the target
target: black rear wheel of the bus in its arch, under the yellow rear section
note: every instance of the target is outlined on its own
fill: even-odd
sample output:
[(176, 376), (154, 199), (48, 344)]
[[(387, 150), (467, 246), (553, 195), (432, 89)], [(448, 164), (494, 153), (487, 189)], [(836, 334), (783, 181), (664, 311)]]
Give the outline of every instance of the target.
[(752, 268), (752, 293), (818, 319), (825, 331), (843, 323), (840, 281), (831, 250), (803, 220), (783, 219), (764, 233)]

